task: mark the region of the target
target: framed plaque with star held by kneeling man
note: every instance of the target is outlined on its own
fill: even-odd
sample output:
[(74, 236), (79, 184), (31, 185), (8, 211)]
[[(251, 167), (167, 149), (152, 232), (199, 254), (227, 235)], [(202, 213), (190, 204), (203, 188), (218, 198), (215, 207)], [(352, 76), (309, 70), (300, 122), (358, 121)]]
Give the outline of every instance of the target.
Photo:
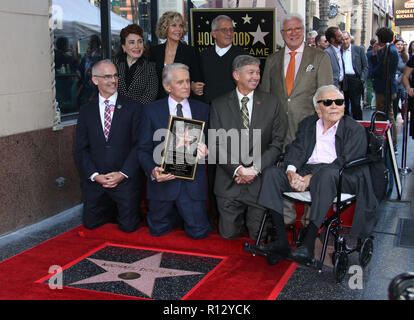
[(204, 121), (170, 116), (161, 168), (177, 178), (194, 180), (197, 145), (202, 141)]

